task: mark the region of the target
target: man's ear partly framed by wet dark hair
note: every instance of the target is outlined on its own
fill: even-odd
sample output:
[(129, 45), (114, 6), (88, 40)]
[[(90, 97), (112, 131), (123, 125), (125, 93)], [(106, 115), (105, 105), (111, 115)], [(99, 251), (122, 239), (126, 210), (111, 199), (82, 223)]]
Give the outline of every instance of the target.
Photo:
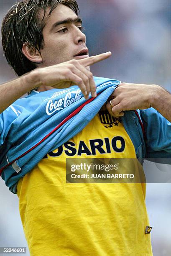
[(32, 61), (34, 63), (42, 63), (43, 62), (41, 54), (37, 50), (35, 50), (31, 46), (29, 46), (28, 43), (23, 44), (22, 51), (23, 51), (24, 56), (26, 56), (26, 58), (29, 59), (30, 61)]

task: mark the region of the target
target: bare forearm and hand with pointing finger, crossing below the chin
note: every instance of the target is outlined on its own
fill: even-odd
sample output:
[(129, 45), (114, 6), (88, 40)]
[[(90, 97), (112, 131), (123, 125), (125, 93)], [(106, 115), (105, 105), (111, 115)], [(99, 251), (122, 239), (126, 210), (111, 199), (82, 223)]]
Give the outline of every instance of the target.
[(1, 84), (0, 113), (22, 95), (40, 86), (62, 89), (77, 84), (86, 99), (89, 97), (89, 92), (92, 97), (96, 97), (93, 75), (87, 67), (110, 56), (111, 52), (107, 52), (86, 59), (72, 59), (53, 66), (34, 69), (13, 81)]

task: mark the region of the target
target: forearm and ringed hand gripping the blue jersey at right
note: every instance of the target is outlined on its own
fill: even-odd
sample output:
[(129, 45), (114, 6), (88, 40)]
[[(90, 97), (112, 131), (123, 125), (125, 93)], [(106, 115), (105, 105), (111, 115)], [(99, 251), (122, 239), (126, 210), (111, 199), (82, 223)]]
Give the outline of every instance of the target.
[(156, 84), (121, 83), (107, 103), (109, 113), (115, 117), (123, 116), (125, 110), (150, 107), (171, 122), (171, 94)]

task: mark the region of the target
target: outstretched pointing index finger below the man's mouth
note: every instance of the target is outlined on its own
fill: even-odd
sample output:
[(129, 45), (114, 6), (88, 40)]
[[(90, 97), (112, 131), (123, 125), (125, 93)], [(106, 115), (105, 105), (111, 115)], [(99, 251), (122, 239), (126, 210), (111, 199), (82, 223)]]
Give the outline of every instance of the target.
[(80, 64), (82, 64), (84, 67), (87, 66), (91, 66), (99, 61), (102, 61), (104, 59), (109, 58), (112, 55), (112, 53), (110, 51), (102, 53), (102, 54), (98, 54), (95, 56), (91, 56), (91, 57), (87, 57), (85, 59), (80, 59), (79, 62)]

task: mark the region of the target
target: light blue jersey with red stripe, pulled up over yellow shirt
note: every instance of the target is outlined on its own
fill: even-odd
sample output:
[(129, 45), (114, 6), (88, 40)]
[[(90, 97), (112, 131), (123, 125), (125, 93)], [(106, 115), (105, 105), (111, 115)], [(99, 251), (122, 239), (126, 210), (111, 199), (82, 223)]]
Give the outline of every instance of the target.
[[(18, 180), (43, 156), (82, 131), (120, 84), (114, 79), (94, 77), (94, 80), (98, 95), (88, 101), (78, 86), (39, 93), (33, 90), (0, 114), (0, 169), (13, 193)], [(125, 111), (122, 118), (137, 157), (170, 158), (171, 123), (153, 108), (138, 110), (138, 114), (139, 117), (135, 111)]]

